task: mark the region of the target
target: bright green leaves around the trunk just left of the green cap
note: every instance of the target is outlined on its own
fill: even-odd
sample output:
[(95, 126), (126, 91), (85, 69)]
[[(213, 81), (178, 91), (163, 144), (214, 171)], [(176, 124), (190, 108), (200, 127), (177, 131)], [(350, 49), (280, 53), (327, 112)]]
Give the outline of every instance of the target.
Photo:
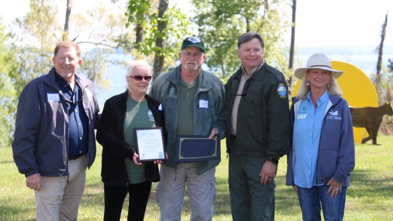
[[(159, 18), (157, 0), (129, 0), (126, 16), (128, 17), (126, 23), (128, 27), (138, 24), (143, 27), (143, 42), (139, 44), (136, 51), (145, 56), (144, 58), (150, 63), (153, 63), (154, 54), (164, 55), (166, 58), (164, 70), (172, 68), (175, 58), (178, 57), (181, 41), (189, 34), (190, 21), (187, 15), (181, 13), (180, 9), (174, 5), (168, 8), (163, 18)], [(159, 21), (167, 24), (167, 27), (162, 31), (157, 28)], [(166, 46), (158, 47), (156, 45), (157, 38), (166, 39)]]

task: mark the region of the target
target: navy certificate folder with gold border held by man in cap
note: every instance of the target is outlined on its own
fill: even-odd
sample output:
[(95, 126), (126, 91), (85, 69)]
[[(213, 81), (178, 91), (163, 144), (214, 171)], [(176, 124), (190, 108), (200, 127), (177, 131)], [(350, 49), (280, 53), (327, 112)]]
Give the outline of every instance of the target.
[(213, 139), (201, 135), (176, 136), (176, 163), (207, 161), (221, 158), (220, 134)]

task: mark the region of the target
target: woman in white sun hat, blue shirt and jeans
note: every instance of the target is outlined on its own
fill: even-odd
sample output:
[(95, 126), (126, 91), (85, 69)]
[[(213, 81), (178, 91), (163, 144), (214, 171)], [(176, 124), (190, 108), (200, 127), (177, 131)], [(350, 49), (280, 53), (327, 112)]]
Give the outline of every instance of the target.
[(305, 221), (320, 221), (321, 206), (325, 221), (344, 216), (355, 146), (351, 113), (336, 80), (342, 73), (323, 54), (311, 55), (307, 67), (294, 73), (302, 83), (292, 98), (286, 185), (298, 194)]

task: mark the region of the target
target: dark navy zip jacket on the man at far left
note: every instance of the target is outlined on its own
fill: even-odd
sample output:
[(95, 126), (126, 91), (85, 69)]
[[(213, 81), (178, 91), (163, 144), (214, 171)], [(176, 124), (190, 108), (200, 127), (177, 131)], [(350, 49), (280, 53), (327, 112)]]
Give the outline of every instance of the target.
[[(94, 128), (98, 121), (98, 103), (93, 83), (77, 75), (88, 118), (87, 163), (95, 159)], [(26, 177), (68, 175), (68, 113), (58, 84), (55, 68), (28, 83), (19, 97), (15, 134), (12, 142), (14, 161)]]

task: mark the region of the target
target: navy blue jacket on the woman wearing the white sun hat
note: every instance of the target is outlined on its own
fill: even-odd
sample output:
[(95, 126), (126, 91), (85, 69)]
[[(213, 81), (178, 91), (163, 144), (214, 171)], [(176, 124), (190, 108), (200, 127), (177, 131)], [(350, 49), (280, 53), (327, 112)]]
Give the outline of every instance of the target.
[[(292, 98), (292, 128), (302, 100)], [(293, 138), (292, 138), (293, 140)], [(293, 162), (295, 158), (293, 142), (287, 155), (286, 185), (292, 186)], [(330, 178), (349, 186), (349, 176), (355, 167), (355, 143), (352, 117), (348, 103), (339, 96), (329, 95), (329, 103), (322, 122), (321, 138), (317, 160), (317, 184), (327, 183)]]

